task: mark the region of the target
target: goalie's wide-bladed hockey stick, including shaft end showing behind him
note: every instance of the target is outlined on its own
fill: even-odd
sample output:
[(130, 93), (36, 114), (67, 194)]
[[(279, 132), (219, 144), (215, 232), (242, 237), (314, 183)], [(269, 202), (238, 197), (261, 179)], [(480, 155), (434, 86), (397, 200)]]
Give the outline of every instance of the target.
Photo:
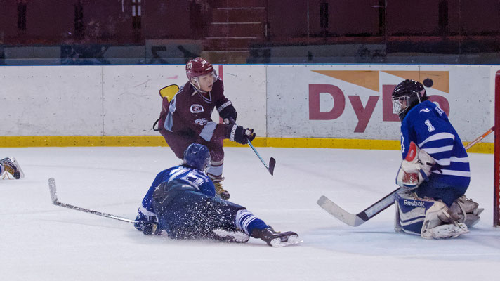
[[(482, 136), (476, 138), (474, 141), (469, 143), (465, 148), (468, 150), (472, 148), (473, 145), (480, 142), (483, 138), (492, 133), (494, 130), (494, 126), (489, 129), (486, 133), (483, 133)], [(348, 211), (342, 209), (340, 206), (329, 200), (326, 196), (322, 195), (320, 199), (317, 200), (317, 204), (320, 205), (325, 211), (329, 212), (332, 216), (338, 218), (343, 223), (346, 223), (348, 226), (360, 226), (370, 218), (373, 218), (381, 211), (390, 207), (390, 205), (394, 204), (394, 195), (400, 190), (404, 190), (404, 188), (397, 188), (393, 192), (390, 192), (388, 195), (384, 196), (381, 200), (375, 202), (367, 209), (360, 211), (357, 214), (351, 214)]]

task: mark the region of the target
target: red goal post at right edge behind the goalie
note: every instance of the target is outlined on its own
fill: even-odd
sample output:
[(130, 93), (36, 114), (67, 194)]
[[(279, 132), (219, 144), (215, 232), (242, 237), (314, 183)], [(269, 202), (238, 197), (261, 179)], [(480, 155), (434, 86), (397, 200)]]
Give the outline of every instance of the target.
[(493, 150), (493, 185), (494, 185), (494, 207), (493, 226), (500, 226), (500, 70), (495, 74), (495, 96), (494, 96), (494, 150)]

